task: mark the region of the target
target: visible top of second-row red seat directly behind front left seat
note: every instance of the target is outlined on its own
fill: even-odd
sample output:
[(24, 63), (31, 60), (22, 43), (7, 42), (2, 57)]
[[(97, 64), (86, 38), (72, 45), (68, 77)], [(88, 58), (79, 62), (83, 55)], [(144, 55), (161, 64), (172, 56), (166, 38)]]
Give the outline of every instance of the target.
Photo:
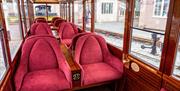
[(53, 35), (47, 23), (34, 23), (30, 29), (30, 35), (49, 34)]

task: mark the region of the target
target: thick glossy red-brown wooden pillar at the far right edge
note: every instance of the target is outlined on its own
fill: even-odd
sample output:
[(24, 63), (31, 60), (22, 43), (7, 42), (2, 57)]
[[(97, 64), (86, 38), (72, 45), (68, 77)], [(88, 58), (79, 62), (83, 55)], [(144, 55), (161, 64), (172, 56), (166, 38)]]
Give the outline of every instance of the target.
[[(177, 45), (178, 45), (178, 39), (179, 39), (179, 29), (180, 29), (180, 1), (179, 0), (172, 0), (171, 1), (173, 6), (173, 15), (171, 16), (172, 21), (171, 22), (171, 27), (169, 28), (169, 30), (167, 30), (167, 33), (169, 32), (169, 35), (165, 36), (165, 43), (164, 45), (167, 51), (163, 51), (163, 53), (166, 53), (164, 55), (164, 73), (167, 75), (171, 75), (172, 70), (173, 70), (173, 65), (174, 65), (174, 61), (175, 61), (175, 54), (176, 54), (176, 50), (177, 50)], [(172, 8), (171, 6), (171, 8)], [(167, 25), (169, 25), (169, 22), (167, 23)]]

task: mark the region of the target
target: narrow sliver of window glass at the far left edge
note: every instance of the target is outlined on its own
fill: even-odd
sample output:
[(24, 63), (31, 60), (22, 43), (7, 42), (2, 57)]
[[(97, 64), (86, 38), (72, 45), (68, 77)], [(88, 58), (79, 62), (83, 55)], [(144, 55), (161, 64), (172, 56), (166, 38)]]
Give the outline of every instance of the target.
[(3, 43), (3, 35), (0, 31), (0, 83), (8, 69), (8, 63), (5, 56), (5, 48)]

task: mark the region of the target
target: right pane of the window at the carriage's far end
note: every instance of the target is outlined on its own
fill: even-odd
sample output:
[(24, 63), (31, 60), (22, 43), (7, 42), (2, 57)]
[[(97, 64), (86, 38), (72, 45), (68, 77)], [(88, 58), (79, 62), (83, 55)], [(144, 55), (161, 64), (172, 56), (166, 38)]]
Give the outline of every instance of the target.
[(60, 16), (59, 4), (48, 4), (48, 20), (52, 20), (53, 17)]

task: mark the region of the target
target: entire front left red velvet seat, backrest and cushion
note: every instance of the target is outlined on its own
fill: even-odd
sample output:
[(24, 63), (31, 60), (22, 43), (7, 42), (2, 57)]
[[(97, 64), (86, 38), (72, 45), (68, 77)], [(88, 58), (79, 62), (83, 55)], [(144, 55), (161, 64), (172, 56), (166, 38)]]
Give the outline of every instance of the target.
[(61, 91), (72, 87), (71, 70), (53, 36), (25, 40), (14, 82), (16, 91)]

